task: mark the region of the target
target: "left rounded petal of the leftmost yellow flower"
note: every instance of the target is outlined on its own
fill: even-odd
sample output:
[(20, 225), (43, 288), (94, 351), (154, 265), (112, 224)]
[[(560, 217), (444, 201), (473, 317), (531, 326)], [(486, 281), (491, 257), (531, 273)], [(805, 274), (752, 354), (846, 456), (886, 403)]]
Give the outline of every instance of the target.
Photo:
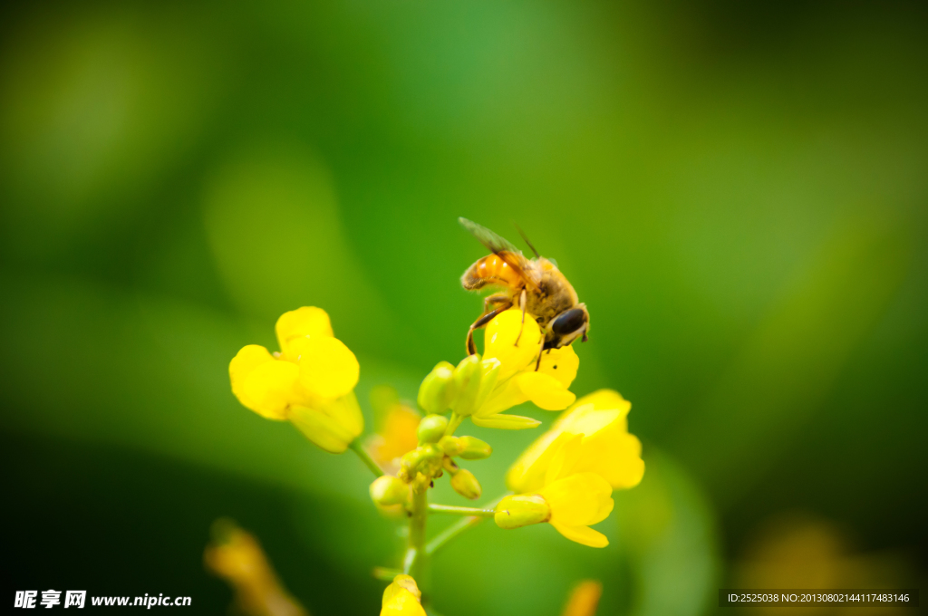
[(244, 347), (229, 364), (238, 402), (268, 419), (286, 419), (290, 404), (301, 400), (300, 369), (275, 359), (264, 347)]

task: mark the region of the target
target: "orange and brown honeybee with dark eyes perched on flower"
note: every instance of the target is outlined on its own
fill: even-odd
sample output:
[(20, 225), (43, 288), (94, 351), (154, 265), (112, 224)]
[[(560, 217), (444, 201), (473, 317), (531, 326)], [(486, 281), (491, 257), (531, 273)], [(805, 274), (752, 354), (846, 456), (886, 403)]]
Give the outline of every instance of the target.
[[(518, 305), (522, 310), (522, 323), (525, 313), (532, 314), (543, 332), (541, 351), (560, 349), (581, 338), (587, 340), (589, 331), (589, 313), (586, 304), (581, 303), (574, 287), (561, 274), (557, 265), (538, 254), (532, 242), (519, 233), (529, 248), (535, 253), (535, 259), (526, 259), (522, 250), (517, 249), (503, 237), (499, 237), (486, 227), (477, 225), (466, 218), (458, 222), (483, 246), (493, 252), (477, 263), (470, 265), (461, 276), (464, 289), (476, 290), (487, 286), (502, 287), (483, 300), (483, 314), (470, 326), (467, 332), (467, 353), (477, 353), (473, 342), (473, 330), (485, 327), (496, 314)], [(520, 331), (519, 336), (522, 336)], [(518, 344), (519, 339), (516, 339)], [(537, 367), (537, 366), (536, 366)]]

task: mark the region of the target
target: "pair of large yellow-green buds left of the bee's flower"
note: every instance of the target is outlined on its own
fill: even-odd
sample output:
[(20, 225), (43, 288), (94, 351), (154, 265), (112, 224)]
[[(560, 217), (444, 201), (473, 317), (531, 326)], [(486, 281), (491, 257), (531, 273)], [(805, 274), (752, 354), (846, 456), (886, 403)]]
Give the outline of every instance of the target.
[(473, 415), (496, 387), (501, 367), (496, 358), (482, 360), (476, 354), (458, 366), (440, 362), (419, 386), (419, 406), (432, 414), (451, 409), (460, 417)]

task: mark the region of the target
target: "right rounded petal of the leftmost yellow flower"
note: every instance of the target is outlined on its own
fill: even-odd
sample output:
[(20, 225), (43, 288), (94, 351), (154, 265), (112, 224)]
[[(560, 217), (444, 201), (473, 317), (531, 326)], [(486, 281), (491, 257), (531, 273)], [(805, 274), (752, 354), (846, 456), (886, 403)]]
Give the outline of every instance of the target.
[(306, 391), (337, 398), (354, 390), (360, 366), (342, 340), (308, 338), (301, 340), (300, 347), (300, 382)]

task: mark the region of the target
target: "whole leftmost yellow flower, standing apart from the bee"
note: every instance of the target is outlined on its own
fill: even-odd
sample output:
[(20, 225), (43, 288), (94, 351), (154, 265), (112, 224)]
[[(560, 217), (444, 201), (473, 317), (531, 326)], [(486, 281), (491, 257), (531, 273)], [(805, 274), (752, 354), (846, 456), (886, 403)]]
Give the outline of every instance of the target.
[(284, 313), (276, 328), (279, 353), (250, 344), (232, 359), (232, 392), (258, 415), (289, 419), (322, 449), (342, 453), (364, 430), (354, 397), (357, 358), (333, 337), (321, 308)]

